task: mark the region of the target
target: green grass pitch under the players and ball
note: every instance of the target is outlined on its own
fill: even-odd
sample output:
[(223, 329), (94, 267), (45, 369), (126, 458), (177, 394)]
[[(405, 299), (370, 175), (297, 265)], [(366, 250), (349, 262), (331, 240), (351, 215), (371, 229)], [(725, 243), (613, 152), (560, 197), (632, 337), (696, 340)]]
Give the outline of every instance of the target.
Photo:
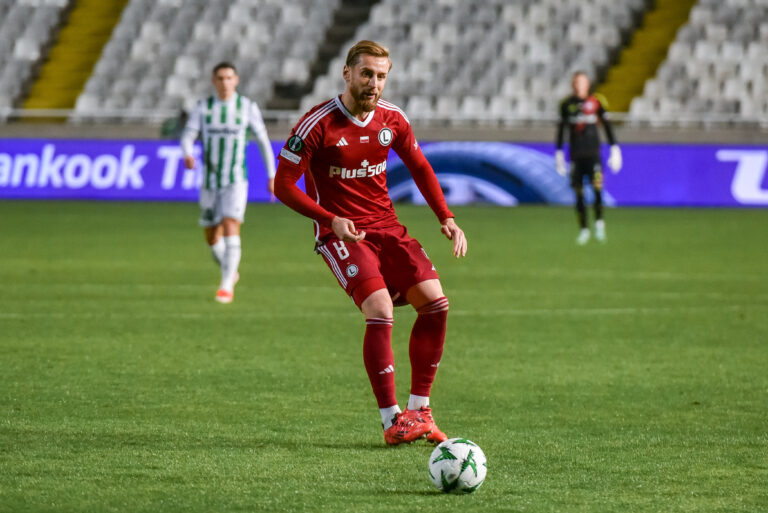
[[(432, 396), (488, 477), (388, 448), (310, 223), (251, 205), (232, 305), (193, 204), (0, 203), (0, 511), (768, 511), (768, 211), (457, 208)], [(414, 314), (395, 312), (398, 397)]]

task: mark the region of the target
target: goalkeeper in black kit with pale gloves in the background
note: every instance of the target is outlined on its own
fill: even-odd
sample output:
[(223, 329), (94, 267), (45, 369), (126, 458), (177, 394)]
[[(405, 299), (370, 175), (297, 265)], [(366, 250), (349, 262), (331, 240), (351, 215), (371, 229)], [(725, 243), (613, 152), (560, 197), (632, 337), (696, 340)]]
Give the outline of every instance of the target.
[(597, 95), (590, 94), (590, 82), (583, 72), (573, 74), (571, 82), (573, 95), (560, 104), (560, 122), (557, 125), (557, 151), (555, 165), (560, 175), (566, 175), (565, 156), (563, 154), (563, 139), (566, 128), (570, 143), (571, 156), (571, 187), (576, 193), (576, 212), (579, 218), (579, 236), (576, 242), (584, 245), (589, 241), (590, 231), (587, 225), (587, 206), (584, 204), (584, 179), (589, 178), (595, 192), (595, 238), (605, 242), (605, 221), (603, 220), (603, 171), (600, 160), (600, 136), (598, 123), (603, 125), (611, 154), (608, 157), (608, 167), (614, 173), (621, 169), (621, 149), (616, 143), (613, 128), (608, 121), (603, 100)]

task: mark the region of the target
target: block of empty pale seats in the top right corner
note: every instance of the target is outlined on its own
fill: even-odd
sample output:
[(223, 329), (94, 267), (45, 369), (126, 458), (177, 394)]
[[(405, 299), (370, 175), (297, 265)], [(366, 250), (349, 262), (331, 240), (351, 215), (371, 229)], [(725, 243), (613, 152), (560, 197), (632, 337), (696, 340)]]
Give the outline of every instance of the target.
[(768, 0), (699, 0), (630, 119), (768, 120)]

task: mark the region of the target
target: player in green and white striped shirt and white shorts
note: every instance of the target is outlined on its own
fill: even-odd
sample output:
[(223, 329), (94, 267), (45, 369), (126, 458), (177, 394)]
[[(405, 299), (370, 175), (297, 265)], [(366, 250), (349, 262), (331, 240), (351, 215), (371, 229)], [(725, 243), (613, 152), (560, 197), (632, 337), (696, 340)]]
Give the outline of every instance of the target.
[(200, 100), (189, 116), (181, 138), (184, 165), (194, 169), (195, 139), (203, 142), (203, 183), (200, 188), (200, 226), (213, 258), (221, 267), (216, 301), (231, 303), (239, 278), (240, 225), (248, 202), (248, 171), (245, 146), (248, 129), (256, 135), (261, 158), (274, 190), (275, 155), (256, 102), (237, 93), (235, 66), (222, 62), (213, 68), (216, 95)]

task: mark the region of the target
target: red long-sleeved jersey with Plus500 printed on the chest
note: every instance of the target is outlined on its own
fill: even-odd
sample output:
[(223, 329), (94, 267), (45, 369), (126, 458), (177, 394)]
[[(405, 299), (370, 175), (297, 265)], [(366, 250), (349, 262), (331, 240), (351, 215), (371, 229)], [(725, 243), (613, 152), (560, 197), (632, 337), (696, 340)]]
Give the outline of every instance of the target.
[[(408, 167), (438, 219), (453, 217), (408, 118), (384, 100), (364, 120), (350, 114), (341, 97), (305, 114), (280, 151), (275, 195), (315, 221), (318, 241), (333, 233), (330, 226), (335, 216), (350, 219), (359, 230), (396, 226), (399, 222), (387, 189), (390, 148)], [(296, 187), (302, 174), (306, 194)]]

